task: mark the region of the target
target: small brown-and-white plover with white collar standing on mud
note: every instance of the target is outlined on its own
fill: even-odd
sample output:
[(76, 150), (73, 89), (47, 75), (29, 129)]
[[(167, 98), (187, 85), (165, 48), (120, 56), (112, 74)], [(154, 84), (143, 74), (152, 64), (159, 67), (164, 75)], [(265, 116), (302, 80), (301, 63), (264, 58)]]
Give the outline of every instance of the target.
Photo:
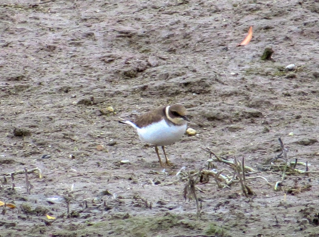
[(143, 142), (154, 145), (159, 164), (164, 167), (159, 157), (158, 146), (162, 147), (166, 160), (165, 166), (172, 166), (164, 146), (171, 145), (182, 138), (187, 128), (186, 121), (189, 121), (186, 114), (184, 106), (175, 104), (151, 110), (137, 116), (133, 122), (130, 120), (119, 120), (118, 122), (130, 124), (137, 130), (137, 134)]

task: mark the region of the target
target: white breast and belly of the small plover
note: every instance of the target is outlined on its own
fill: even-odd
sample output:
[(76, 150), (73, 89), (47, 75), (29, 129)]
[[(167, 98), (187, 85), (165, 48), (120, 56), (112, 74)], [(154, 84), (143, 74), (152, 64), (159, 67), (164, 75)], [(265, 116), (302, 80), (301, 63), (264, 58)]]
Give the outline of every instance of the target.
[(157, 146), (166, 146), (180, 140), (185, 133), (187, 124), (181, 126), (170, 126), (163, 119), (159, 122), (152, 123), (144, 128), (137, 128), (137, 134), (140, 139), (146, 143), (151, 143)]

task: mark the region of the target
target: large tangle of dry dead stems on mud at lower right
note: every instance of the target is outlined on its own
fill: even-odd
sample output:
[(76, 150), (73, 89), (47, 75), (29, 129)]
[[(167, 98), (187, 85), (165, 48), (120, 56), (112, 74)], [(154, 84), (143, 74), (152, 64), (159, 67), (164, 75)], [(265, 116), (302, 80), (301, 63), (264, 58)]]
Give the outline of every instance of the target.
[[(218, 187), (225, 188), (225, 187), (231, 187), (235, 183), (239, 183), (242, 191), (242, 195), (249, 197), (253, 194), (252, 189), (247, 184), (248, 180), (253, 179), (263, 179), (266, 184), (270, 187), (275, 187), (275, 190), (279, 190), (283, 181), (286, 178), (286, 175), (289, 174), (308, 174), (310, 171), (308, 170), (308, 163), (300, 162), (297, 158), (295, 158), (294, 161), (288, 160), (288, 149), (285, 147), (284, 143), (282, 142), (281, 138), (278, 139), (279, 144), (281, 146), (281, 153), (276, 156), (275, 158), (268, 161), (266, 164), (262, 166), (262, 170), (258, 167), (258, 171), (256, 171), (254, 168), (249, 167), (245, 165), (245, 159), (242, 158), (241, 160), (238, 160), (236, 157), (234, 157), (233, 160), (227, 160), (220, 158), (218, 155), (216, 155), (213, 151), (211, 151), (209, 148), (202, 148), (202, 150), (209, 153), (209, 159), (207, 169), (200, 169), (198, 171), (189, 171), (185, 172), (185, 167), (182, 167), (180, 171), (177, 172), (176, 176), (179, 177), (179, 180), (175, 180), (172, 182), (163, 183), (162, 185), (172, 185), (175, 183), (178, 183), (180, 181), (186, 181), (185, 187), (184, 187), (184, 198), (185, 200), (190, 197), (193, 197), (196, 201), (196, 208), (197, 208), (197, 215), (200, 216), (201, 214), (201, 204), (199, 203), (197, 192), (203, 192), (200, 188), (198, 188), (197, 184), (205, 184), (210, 181), (210, 178), (213, 178)], [(273, 161), (276, 160), (283, 160), (284, 165), (274, 165)], [(226, 165), (226, 168), (224, 169), (216, 169), (216, 162), (223, 163)], [(305, 166), (305, 170), (298, 170), (296, 169), (297, 165)], [(228, 168), (227, 168), (228, 167)], [(281, 179), (280, 181), (276, 182), (275, 186), (273, 184), (270, 184), (268, 180), (261, 176), (254, 174), (261, 173), (262, 171), (281, 171)], [(227, 174), (228, 173), (228, 174)], [(311, 172), (315, 173), (315, 172)], [(319, 173), (319, 172), (318, 172)], [(295, 185), (289, 189), (286, 190), (286, 193), (298, 193), (301, 191), (309, 190), (311, 185), (305, 185), (302, 187), (299, 187), (296, 183)], [(286, 195), (285, 193), (285, 195)]]

